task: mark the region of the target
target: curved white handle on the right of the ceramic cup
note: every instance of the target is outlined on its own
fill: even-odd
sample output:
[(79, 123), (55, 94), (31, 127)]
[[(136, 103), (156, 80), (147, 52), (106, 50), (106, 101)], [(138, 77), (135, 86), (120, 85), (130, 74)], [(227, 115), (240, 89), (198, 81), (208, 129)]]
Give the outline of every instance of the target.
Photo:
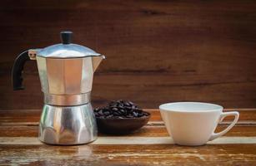
[(218, 137), (222, 136), (223, 134), (226, 134), (231, 128), (233, 128), (233, 126), (238, 122), (238, 118), (239, 118), (239, 113), (237, 111), (223, 112), (219, 117), (219, 122), (222, 122), (227, 116), (230, 116), (230, 115), (234, 116), (233, 122), (230, 125), (228, 125), (228, 127), (226, 129), (224, 129), (223, 131), (221, 131), (219, 133), (213, 132), (213, 134), (211, 135), (209, 140), (217, 139)]

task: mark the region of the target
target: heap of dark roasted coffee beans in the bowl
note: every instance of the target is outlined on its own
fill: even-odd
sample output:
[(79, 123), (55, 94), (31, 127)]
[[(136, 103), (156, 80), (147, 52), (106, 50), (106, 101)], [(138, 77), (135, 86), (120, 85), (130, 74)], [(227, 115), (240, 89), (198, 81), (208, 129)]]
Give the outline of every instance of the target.
[(94, 109), (94, 114), (97, 118), (108, 119), (139, 118), (149, 115), (139, 109), (138, 105), (126, 100), (111, 101), (105, 107)]

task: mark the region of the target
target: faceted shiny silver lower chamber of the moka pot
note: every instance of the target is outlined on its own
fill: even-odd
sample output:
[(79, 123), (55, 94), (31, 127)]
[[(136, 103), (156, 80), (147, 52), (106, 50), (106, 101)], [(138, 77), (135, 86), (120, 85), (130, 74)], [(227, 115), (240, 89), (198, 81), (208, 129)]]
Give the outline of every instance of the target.
[(38, 136), (43, 143), (88, 144), (97, 139), (97, 133), (90, 103), (76, 106), (43, 106)]

